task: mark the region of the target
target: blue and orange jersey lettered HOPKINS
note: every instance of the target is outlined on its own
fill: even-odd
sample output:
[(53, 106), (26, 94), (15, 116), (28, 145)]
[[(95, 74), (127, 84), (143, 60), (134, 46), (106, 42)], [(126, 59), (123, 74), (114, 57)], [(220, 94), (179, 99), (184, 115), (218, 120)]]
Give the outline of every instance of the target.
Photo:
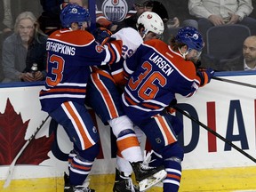
[(101, 46), (87, 31), (58, 30), (46, 43), (47, 76), (39, 99), (42, 109), (50, 112), (64, 101), (84, 105), (90, 66), (118, 62), (122, 42), (114, 41)]

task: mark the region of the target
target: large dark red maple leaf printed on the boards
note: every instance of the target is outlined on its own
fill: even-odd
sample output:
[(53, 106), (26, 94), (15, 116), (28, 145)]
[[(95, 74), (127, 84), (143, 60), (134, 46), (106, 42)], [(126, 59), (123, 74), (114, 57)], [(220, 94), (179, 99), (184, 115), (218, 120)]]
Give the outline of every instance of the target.
[[(29, 120), (22, 122), (20, 114), (17, 114), (12, 107), (10, 100), (7, 100), (4, 114), (0, 113), (0, 164), (11, 164), (14, 157), (19, 153), (20, 148), (26, 143), (25, 134)], [(38, 124), (39, 126), (39, 124)], [(44, 128), (44, 127), (43, 127)], [(36, 130), (36, 127), (35, 127)], [(51, 150), (54, 135), (48, 138), (41, 137), (31, 140), (16, 164), (40, 164), (49, 159), (47, 156)]]

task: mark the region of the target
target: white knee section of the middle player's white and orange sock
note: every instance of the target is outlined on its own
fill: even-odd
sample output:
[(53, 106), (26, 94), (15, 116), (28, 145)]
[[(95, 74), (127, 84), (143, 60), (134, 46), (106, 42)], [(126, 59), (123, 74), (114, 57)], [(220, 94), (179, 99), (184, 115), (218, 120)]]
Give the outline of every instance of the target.
[(112, 131), (116, 138), (118, 138), (120, 132), (123, 132), (124, 130), (133, 131), (133, 124), (128, 116), (118, 116), (114, 119), (109, 120), (108, 124), (112, 127)]

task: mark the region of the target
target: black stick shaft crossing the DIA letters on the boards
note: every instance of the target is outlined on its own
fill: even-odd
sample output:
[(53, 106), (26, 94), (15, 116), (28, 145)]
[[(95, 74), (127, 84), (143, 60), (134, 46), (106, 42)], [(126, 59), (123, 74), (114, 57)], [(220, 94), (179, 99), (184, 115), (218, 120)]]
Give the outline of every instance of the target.
[(213, 135), (215, 135), (216, 137), (218, 137), (220, 140), (223, 140), (224, 142), (228, 143), (228, 145), (230, 145), (232, 148), (236, 148), (237, 151), (239, 151), (240, 153), (242, 153), (244, 156), (250, 158), (254, 163), (256, 163), (256, 159), (252, 156), (250, 156), (248, 153), (244, 152), (244, 150), (242, 150), (241, 148), (238, 148), (236, 145), (234, 145), (231, 141), (225, 139), (224, 137), (222, 137), (218, 132), (214, 132), (210, 127), (206, 126), (205, 124), (201, 123), (200, 121), (198, 121), (195, 117), (190, 116), (187, 112), (185, 112), (184, 110), (182, 110), (181, 108), (178, 108), (177, 106), (172, 106), (172, 108), (175, 108), (177, 111), (179, 111), (181, 114), (183, 114), (184, 116), (187, 116), (189, 119), (191, 119), (192, 121), (196, 122), (196, 124), (199, 124), (200, 126), (204, 127), (204, 129), (206, 129), (208, 132), (211, 132)]

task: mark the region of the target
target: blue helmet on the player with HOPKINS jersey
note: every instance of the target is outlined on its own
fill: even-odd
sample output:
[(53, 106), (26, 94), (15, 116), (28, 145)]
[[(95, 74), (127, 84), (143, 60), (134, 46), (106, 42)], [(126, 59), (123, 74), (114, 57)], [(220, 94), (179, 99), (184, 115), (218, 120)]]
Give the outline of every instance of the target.
[(87, 26), (90, 27), (90, 14), (89, 11), (77, 4), (68, 4), (60, 12), (60, 21), (63, 28), (70, 28), (73, 22), (76, 22), (81, 28), (84, 22), (87, 22)]

